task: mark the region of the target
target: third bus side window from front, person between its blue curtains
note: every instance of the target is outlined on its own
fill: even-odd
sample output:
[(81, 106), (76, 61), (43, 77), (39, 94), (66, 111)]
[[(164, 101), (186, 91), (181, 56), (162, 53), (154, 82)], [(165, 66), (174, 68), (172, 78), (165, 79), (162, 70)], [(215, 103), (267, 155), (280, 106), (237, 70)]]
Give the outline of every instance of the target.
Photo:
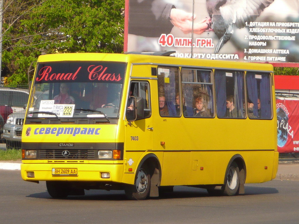
[(245, 118), (244, 72), (215, 70), (218, 117)]

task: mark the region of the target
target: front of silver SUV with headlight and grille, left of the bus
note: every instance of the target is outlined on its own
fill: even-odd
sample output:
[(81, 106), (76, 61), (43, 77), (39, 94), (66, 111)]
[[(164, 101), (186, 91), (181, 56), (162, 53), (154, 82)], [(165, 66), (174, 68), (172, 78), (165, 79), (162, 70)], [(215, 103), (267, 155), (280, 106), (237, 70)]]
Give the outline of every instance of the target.
[(6, 148), (21, 148), (22, 129), (26, 110), (11, 113), (4, 125), (3, 137), (6, 140)]

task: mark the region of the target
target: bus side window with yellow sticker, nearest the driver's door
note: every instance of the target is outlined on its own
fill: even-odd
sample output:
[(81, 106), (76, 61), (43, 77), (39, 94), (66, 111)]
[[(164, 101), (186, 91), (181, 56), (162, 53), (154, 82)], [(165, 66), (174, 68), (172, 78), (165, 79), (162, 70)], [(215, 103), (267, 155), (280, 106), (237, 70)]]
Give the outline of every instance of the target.
[(158, 105), (161, 117), (181, 116), (176, 96), (180, 96), (179, 68), (158, 67)]

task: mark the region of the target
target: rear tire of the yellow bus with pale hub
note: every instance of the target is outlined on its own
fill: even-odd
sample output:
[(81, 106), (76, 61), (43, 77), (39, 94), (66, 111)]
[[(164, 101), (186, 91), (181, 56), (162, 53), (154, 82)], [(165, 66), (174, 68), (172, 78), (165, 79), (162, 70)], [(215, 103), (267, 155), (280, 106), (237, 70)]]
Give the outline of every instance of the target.
[(225, 185), (223, 186), (223, 194), (226, 196), (234, 196), (239, 192), (240, 171), (236, 162), (232, 162), (228, 168), (225, 177)]

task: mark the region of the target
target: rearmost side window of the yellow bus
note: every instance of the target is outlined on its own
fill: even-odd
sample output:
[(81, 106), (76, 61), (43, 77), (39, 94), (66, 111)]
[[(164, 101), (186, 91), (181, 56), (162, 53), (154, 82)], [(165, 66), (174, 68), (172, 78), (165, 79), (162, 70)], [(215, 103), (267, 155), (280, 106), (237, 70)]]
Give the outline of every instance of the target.
[(271, 77), (269, 73), (247, 72), (246, 85), (248, 102), (253, 103), (251, 119), (271, 119)]

